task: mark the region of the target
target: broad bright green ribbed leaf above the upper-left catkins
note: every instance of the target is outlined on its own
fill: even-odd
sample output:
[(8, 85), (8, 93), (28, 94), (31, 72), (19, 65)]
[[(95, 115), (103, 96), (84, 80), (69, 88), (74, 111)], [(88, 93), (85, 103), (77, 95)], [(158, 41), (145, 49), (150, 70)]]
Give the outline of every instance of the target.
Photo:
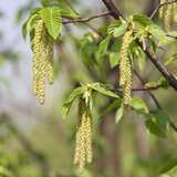
[(61, 10), (56, 7), (44, 8), (40, 11), (41, 18), (45, 23), (48, 32), (56, 39), (62, 32)]

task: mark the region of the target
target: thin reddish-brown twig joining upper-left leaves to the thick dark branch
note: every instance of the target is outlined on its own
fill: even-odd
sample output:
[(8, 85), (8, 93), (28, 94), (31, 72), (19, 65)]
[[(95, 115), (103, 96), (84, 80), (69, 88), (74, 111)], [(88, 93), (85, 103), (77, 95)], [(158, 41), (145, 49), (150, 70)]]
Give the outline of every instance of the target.
[(101, 17), (105, 17), (105, 15), (110, 15), (111, 12), (103, 12), (103, 13), (98, 13), (98, 14), (95, 14), (95, 15), (92, 15), (87, 19), (74, 19), (74, 20), (69, 20), (69, 21), (62, 21), (63, 24), (69, 24), (69, 23), (76, 23), (76, 22), (88, 22), (93, 19), (96, 19), (96, 18), (101, 18)]

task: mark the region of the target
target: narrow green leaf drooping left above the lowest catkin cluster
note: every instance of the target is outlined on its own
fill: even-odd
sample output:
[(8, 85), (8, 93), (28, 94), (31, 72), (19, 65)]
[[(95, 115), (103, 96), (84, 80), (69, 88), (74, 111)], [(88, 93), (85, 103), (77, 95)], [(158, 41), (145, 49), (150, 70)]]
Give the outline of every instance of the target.
[(73, 104), (73, 102), (74, 102), (74, 100), (76, 98), (76, 97), (79, 97), (81, 94), (83, 94), (84, 93), (84, 88), (83, 87), (77, 87), (77, 88), (75, 88), (72, 93), (71, 93), (71, 95), (69, 96), (69, 98), (66, 100), (66, 102), (63, 104), (63, 106), (62, 106), (62, 116), (63, 117), (65, 117), (67, 114), (69, 114), (69, 112), (70, 112), (70, 108), (71, 108), (71, 106), (72, 106), (72, 104)]

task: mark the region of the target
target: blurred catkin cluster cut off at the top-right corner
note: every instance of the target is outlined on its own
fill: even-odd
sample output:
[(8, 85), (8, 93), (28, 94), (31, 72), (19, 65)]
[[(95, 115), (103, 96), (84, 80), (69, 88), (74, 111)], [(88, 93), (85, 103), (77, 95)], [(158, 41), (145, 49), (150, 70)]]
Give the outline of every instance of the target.
[(164, 19), (165, 30), (167, 32), (170, 31), (171, 15), (174, 22), (177, 22), (177, 2), (170, 3), (173, 1), (174, 0), (160, 0), (160, 4), (165, 6), (162, 6), (159, 9), (159, 18)]

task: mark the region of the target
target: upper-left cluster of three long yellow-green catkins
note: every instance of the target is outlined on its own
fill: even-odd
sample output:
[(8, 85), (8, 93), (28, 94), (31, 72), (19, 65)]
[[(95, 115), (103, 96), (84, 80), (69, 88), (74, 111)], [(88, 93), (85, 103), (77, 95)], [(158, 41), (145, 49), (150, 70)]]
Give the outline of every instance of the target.
[(39, 95), (40, 104), (44, 104), (46, 66), (49, 83), (53, 84), (53, 39), (40, 20), (33, 39), (33, 94)]

